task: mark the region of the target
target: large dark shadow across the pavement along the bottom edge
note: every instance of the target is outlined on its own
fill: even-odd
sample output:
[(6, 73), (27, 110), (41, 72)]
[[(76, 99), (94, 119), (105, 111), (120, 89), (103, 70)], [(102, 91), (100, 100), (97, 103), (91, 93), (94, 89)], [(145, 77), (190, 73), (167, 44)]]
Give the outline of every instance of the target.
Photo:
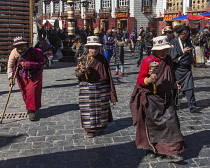
[(136, 149), (134, 142), (56, 152), (0, 162), (0, 167), (12, 168), (137, 168), (144, 157), (144, 151)]

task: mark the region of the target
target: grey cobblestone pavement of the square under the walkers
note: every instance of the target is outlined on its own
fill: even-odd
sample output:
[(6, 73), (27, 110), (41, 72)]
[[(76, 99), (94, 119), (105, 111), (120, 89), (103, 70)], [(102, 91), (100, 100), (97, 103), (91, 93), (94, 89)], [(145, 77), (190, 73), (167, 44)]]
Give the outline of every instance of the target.
[[(114, 122), (104, 134), (87, 139), (81, 128), (78, 81), (74, 63), (54, 62), (44, 70), (42, 109), (39, 120), (4, 120), (0, 125), (0, 168), (187, 168), (210, 167), (209, 68), (194, 68), (197, 105), (202, 113), (191, 114), (181, 99), (178, 115), (188, 150), (185, 161), (148, 160), (134, 144), (129, 99), (138, 74), (136, 59), (126, 48), (125, 76), (114, 76), (119, 102), (112, 109)], [(114, 65), (111, 63), (112, 73)], [(8, 94), (6, 74), (0, 74), (0, 109)], [(25, 112), (17, 85), (7, 113)]]

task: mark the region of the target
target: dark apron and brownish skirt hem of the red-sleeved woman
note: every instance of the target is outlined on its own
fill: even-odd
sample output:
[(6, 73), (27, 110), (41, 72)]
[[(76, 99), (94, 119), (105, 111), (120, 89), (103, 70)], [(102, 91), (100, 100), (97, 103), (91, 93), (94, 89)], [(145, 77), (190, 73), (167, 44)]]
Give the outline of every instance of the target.
[[(150, 146), (138, 137), (141, 127), (137, 123), (138, 148), (153, 149), (159, 154), (172, 155), (186, 150), (172, 93), (147, 95), (145, 111), (146, 136)], [(145, 144), (145, 146), (144, 146)]]

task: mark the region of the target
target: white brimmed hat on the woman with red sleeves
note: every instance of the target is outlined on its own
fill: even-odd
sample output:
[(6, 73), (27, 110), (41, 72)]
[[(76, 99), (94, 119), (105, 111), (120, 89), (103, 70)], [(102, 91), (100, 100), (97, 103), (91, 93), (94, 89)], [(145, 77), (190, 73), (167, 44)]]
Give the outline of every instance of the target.
[(153, 38), (153, 47), (151, 50), (163, 50), (166, 48), (172, 48), (172, 45), (168, 42), (167, 36), (158, 36)]

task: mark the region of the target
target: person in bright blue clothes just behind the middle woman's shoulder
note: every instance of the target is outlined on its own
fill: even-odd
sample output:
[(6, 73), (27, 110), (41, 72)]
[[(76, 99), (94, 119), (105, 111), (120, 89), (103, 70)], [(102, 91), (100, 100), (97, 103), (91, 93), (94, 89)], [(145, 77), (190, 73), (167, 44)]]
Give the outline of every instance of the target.
[(114, 46), (114, 36), (112, 35), (112, 30), (107, 30), (107, 34), (104, 35), (104, 56), (107, 59), (108, 63), (110, 63), (110, 59), (113, 56), (113, 46)]

